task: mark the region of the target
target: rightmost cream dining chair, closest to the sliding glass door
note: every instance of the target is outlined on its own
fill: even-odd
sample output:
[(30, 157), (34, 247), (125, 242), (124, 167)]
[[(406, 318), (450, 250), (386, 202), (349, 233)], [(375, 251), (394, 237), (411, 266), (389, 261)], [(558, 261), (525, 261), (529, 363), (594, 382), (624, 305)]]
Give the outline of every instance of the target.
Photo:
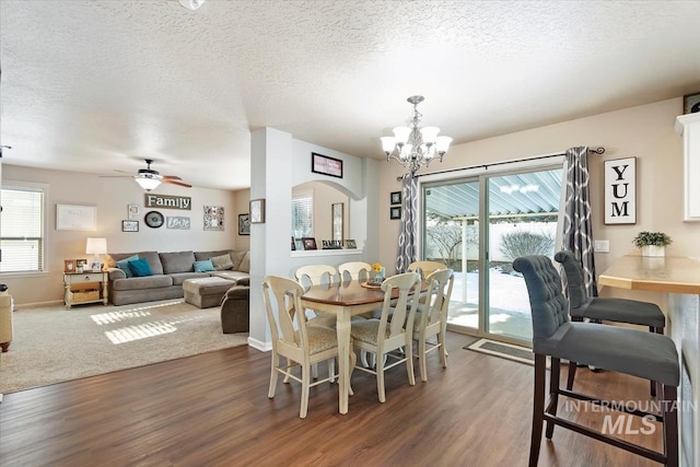
[[(429, 352), (439, 350), (440, 363), (443, 369), (447, 367), (445, 336), (454, 281), (455, 275), (452, 269), (438, 269), (425, 278), (428, 291), (423, 293), (424, 301), (418, 304), (413, 322), (413, 340), (418, 341), (417, 357), (421, 381), (428, 381)], [(435, 342), (430, 341), (430, 338), (434, 338)]]

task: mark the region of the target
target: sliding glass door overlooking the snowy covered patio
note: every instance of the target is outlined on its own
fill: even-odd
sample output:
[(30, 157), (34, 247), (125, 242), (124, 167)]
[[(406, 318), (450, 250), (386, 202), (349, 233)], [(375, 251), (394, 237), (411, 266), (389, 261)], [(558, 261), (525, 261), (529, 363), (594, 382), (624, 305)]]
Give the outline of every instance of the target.
[(422, 187), (422, 257), (455, 270), (448, 327), (532, 340), (529, 300), (513, 260), (553, 256), (561, 166), (431, 182)]

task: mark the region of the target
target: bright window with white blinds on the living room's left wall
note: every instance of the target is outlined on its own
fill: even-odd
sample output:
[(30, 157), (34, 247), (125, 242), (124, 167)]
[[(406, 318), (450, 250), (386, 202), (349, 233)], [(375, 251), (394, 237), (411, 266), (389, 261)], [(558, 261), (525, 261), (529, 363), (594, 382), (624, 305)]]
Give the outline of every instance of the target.
[(44, 188), (5, 184), (0, 192), (0, 272), (44, 270)]

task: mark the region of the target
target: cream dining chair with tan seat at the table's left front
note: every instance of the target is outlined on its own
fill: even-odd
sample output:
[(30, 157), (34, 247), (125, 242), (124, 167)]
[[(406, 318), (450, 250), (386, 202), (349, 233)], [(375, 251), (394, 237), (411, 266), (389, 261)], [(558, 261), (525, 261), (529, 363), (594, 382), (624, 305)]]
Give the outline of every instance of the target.
[[(284, 375), (284, 383), (294, 380), (302, 384), (300, 418), (306, 418), (308, 409), (308, 389), (335, 378), (329, 370), (328, 377), (312, 380), (312, 365), (330, 361), (338, 357), (338, 338), (335, 329), (323, 326), (307, 326), (301, 296), (304, 288), (296, 281), (283, 277), (267, 276), (262, 282), (262, 299), (267, 311), (272, 336), (272, 364), (268, 397), (275, 397), (278, 374)], [(282, 366), (281, 359), (287, 359)], [(292, 369), (301, 367), (301, 377)], [(350, 362), (350, 372), (354, 366)], [(329, 366), (330, 367), (330, 366)]]

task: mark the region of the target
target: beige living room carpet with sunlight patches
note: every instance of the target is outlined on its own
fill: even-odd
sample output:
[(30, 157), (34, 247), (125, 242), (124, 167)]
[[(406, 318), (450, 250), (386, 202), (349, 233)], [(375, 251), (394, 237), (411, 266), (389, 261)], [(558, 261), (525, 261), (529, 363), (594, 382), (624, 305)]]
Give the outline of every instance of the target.
[(219, 313), (182, 299), (15, 311), (10, 351), (0, 355), (0, 393), (246, 345), (247, 332), (221, 331)]

